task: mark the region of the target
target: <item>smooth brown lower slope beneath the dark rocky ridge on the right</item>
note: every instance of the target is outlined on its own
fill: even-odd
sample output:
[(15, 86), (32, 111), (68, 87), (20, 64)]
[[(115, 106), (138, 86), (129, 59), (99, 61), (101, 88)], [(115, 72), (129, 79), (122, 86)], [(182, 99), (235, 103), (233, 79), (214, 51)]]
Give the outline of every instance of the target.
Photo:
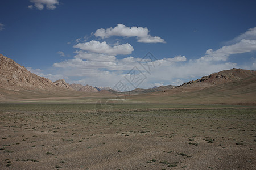
[(204, 88), (175, 88), (165, 93), (140, 94), (127, 99), (168, 104), (256, 105), (256, 76)]

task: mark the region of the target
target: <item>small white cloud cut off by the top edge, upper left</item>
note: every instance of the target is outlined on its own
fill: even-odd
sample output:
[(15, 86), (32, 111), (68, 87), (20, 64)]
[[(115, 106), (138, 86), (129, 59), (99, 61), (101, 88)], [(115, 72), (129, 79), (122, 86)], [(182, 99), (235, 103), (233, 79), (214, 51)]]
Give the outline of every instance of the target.
[(28, 8), (32, 9), (36, 7), (38, 10), (43, 10), (44, 5), (48, 10), (54, 10), (56, 5), (59, 5), (59, 0), (30, 0), (34, 5), (29, 5)]

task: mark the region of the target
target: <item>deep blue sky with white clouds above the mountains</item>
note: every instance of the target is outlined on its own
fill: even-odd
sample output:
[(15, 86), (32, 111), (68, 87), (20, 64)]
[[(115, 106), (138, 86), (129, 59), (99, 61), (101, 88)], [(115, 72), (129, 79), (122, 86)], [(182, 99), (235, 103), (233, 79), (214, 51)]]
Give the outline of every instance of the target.
[(120, 91), (256, 70), (256, 1), (0, 1), (0, 53)]

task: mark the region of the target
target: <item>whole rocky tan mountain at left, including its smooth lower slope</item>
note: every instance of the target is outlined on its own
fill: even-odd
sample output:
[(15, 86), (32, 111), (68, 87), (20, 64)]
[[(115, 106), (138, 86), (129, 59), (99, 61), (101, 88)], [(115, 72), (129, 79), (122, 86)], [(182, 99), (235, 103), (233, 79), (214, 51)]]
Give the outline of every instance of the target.
[(64, 80), (55, 83), (31, 73), (24, 66), (0, 54), (0, 100), (90, 95), (69, 89)]

